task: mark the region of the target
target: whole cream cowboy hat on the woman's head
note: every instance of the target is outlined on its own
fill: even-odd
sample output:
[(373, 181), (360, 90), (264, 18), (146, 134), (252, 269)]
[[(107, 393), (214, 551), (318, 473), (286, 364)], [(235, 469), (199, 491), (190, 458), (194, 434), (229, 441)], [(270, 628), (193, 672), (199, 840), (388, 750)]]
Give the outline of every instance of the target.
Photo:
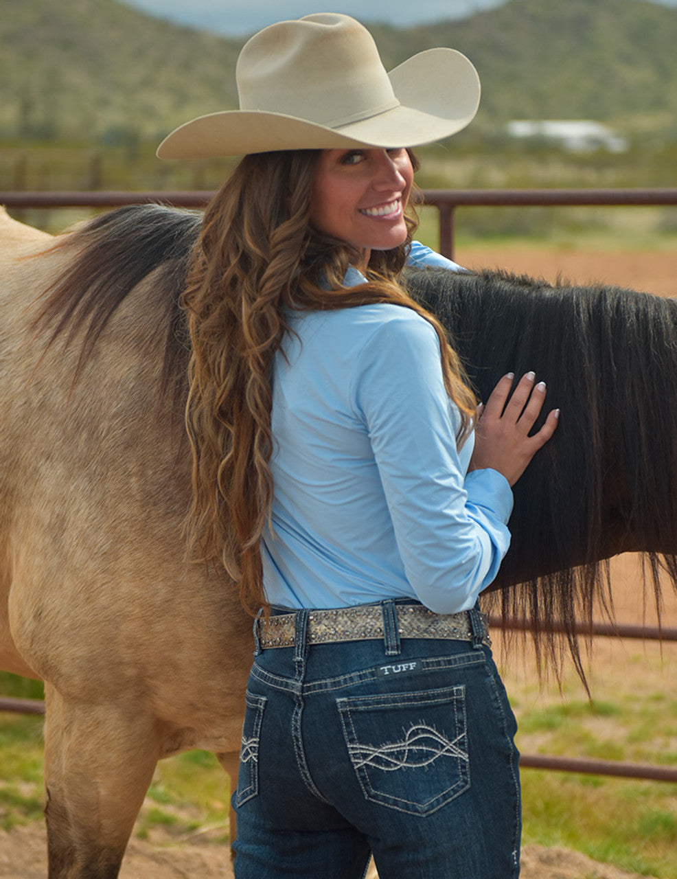
[(237, 59), (237, 91), (239, 110), (186, 122), (157, 155), (414, 147), (466, 127), (480, 89), (476, 69), (454, 49), (428, 49), (387, 73), (360, 22), (323, 12), (251, 37)]

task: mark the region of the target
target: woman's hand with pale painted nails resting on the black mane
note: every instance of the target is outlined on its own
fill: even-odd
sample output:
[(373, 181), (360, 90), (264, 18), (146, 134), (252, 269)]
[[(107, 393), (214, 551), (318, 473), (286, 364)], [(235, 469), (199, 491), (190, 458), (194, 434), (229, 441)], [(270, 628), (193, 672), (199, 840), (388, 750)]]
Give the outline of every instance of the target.
[(511, 396), (513, 379), (512, 373), (504, 375), (491, 391), (486, 405), (478, 407), (475, 449), (469, 467), (470, 470), (491, 467), (502, 473), (511, 485), (524, 473), (539, 448), (548, 442), (559, 418), (559, 410), (552, 410), (541, 430), (529, 436), (545, 402), (545, 382), (534, 385), (535, 374), (527, 373)]

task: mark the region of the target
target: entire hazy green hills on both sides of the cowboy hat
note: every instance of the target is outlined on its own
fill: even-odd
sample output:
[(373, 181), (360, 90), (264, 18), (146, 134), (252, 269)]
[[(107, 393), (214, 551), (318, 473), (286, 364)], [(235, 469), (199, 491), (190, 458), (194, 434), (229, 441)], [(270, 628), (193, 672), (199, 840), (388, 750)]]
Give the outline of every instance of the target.
[[(460, 21), (368, 27), (387, 67), (433, 46), (467, 54), (483, 84), (476, 131), (585, 118), (677, 140), (677, 9), (509, 0)], [(243, 42), (116, 0), (0, 0), (0, 141), (158, 140), (237, 106)]]

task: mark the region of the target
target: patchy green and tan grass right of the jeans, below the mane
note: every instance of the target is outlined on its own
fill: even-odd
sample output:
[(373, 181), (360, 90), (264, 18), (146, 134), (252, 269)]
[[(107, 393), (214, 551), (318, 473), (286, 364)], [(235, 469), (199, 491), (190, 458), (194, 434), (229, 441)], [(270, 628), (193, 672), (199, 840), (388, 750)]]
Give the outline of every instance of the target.
[[(570, 665), (560, 692), (554, 682), (539, 684), (519, 649), (499, 662), (520, 751), (677, 765), (673, 645), (600, 642), (589, 668), (592, 701)], [(564, 846), (640, 875), (677, 876), (677, 785), (530, 768), (521, 778), (525, 844)]]

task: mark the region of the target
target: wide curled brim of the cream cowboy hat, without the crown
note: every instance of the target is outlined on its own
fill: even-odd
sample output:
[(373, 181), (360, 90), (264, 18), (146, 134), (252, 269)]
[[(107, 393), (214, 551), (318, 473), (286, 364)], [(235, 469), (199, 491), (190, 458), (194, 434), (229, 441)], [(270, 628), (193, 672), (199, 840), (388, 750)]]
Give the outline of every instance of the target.
[(389, 73), (400, 105), (347, 125), (259, 110), (227, 110), (179, 126), (157, 148), (164, 159), (242, 156), (280, 149), (397, 149), (444, 140), (477, 113), (477, 70), (455, 49), (427, 49)]

